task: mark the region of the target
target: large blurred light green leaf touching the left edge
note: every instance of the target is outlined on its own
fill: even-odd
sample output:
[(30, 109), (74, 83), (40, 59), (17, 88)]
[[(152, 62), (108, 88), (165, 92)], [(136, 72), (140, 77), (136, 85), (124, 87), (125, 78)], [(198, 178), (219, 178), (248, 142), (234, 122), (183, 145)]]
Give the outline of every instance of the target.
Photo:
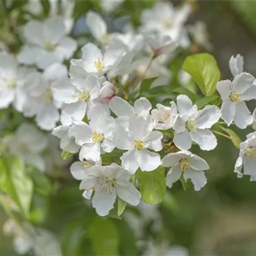
[(0, 189), (17, 204), (20, 212), (29, 216), (33, 183), (26, 175), (22, 161), (15, 156), (0, 158)]

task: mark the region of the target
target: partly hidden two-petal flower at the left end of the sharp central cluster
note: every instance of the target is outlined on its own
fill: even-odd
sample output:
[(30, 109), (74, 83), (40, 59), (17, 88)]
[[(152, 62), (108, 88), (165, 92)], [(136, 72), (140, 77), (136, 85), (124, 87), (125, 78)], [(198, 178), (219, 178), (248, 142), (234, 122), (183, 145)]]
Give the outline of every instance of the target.
[(59, 148), (70, 153), (77, 153), (80, 146), (76, 145), (75, 138), (69, 136), (68, 131), (70, 127), (67, 125), (59, 125), (52, 129), (52, 135), (61, 139)]

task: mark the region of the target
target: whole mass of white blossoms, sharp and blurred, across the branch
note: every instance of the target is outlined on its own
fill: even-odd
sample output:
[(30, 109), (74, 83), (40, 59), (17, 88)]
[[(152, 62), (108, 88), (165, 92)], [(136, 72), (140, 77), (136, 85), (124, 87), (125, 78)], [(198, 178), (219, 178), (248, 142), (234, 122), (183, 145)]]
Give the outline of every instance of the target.
[[(20, 27), (17, 54), (1, 45), (0, 108), (21, 113), (23, 122), (2, 139), (0, 153), (18, 156), (40, 171), (70, 163), (83, 197), (92, 198), (98, 215), (108, 215), (120, 202), (156, 204), (150, 191), (165, 191), (178, 180), (201, 190), (210, 166), (194, 148), (215, 149), (215, 135), (232, 140), (231, 125), (256, 128), (256, 110), (252, 114), (246, 104), (256, 100), (256, 80), (243, 71), (241, 55), (230, 58), (233, 80), (218, 82), (218, 66), (211, 62), (206, 77), (200, 69), (198, 75), (187, 68), (189, 74), (179, 71), (172, 81), (169, 66), (179, 51), (192, 43), (212, 47), (204, 23), (187, 26), (190, 3), (174, 8), (169, 1), (156, 2), (142, 10), (136, 28), (127, 22), (113, 29), (93, 10), (73, 27), (75, 3), (58, 1), (58, 15), (57, 1), (49, 2), (44, 20), (31, 18), (43, 12), (40, 1), (24, 6), (31, 16)], [(122, 2), (100, 1), (100, 6), (110, 15)], [(84, 42), (79, 36), (86, 33)], [(208, 75), (209, 69), (217, 75)], [(200, 93), (190, 87), (191, 78)], [(60, 155), (70, 161), (61, 162)], [(254, 181), (255, 166), (253, 132), (240, 143), (234, 171)], [(159, 184), (147, 187), (145, 177)]]

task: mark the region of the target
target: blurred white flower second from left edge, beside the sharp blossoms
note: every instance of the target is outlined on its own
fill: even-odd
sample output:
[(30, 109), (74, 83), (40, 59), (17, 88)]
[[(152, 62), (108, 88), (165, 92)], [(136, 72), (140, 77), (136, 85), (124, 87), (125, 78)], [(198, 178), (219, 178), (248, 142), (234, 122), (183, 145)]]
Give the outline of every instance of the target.
[(54, 80), (68, 76), (66, 66), (52, 64), (42, 73), (30, 73), (24, 85), (28, 100), (24, 103), (24, 115), (36, 115), (37, 125), (50, 131), (59, 121), (61, 102), (55, 99), (51, 92), (51, 83)]

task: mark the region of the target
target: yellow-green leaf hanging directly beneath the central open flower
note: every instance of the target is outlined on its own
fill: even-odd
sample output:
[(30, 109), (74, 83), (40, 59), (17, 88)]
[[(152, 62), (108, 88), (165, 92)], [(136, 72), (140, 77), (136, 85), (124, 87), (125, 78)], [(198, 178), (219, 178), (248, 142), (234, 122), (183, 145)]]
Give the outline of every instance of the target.
[(162, 202), (166, 192), (164, 167), (154, 171), (139, 171), (138, 180), (143, 201), (152, 205)]

